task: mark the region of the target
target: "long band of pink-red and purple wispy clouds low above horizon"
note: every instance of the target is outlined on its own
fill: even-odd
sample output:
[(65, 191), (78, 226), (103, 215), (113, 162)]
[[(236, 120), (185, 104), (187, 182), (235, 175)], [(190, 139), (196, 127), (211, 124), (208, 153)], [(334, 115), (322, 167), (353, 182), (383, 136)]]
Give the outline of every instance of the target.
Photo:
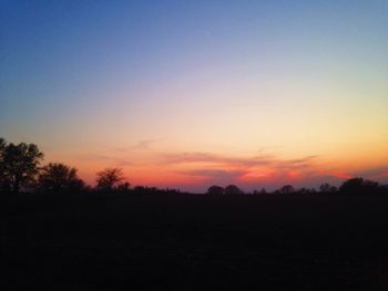
[[(139, 148), (147, 148), (160, 139), (144, 139)], [(257, 152), (256, 152), (257, 154)], [(262, 154), (262, 153), (259, 153)], [(150, 157), (150, 156), (149, 156)], [(296, 187), (317, 187), (321, 183), (339, 185), (350, 177), (361, 176), (382, 183), (388, 181), (388, 166), (371, 168), (358, 173), (344, 172), (326, 165), (319, 155), (306, 155), (298, 158), (282, 158), (278, 155), (227, 155), (210, 152), (160, 153), (153, 150), (152, 157), (144, 159), (135, 147), (111, 155), (86, 154), (83, 159), (95, 160), (99, 165), (123, 167), (131, 177), (157, 180), (165, 185), (187, 189), (204, 190), (210, 185), (226, 186), (236, 184), (245, 189), (266, 187), (277, 188), (284, 184)], [(157, 177), (163, 173), (163, 179)], [(163, 185), (164, 185), (163, 184)]]

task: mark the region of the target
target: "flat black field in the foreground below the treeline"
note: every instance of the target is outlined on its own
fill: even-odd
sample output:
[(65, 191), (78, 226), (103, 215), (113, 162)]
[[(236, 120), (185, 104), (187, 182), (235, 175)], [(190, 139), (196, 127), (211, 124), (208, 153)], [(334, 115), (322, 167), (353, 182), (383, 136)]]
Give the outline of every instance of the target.
[(0, 197), (0, 290), (387, 290), (388, 199)]

